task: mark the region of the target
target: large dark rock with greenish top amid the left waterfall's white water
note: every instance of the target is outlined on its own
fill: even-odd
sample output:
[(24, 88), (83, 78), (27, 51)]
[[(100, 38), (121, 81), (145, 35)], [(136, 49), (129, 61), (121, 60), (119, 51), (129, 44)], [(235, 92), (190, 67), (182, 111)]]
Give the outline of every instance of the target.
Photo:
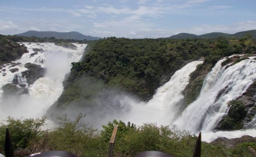
[(44, 77), (44, 73), (46, 71), (45, 68), (33, 63), (26, 63), (25, 68), (29, 70), (22, 71), (21, 76), (26, 77), (29, 85), (33, 84), (37, 79)]

